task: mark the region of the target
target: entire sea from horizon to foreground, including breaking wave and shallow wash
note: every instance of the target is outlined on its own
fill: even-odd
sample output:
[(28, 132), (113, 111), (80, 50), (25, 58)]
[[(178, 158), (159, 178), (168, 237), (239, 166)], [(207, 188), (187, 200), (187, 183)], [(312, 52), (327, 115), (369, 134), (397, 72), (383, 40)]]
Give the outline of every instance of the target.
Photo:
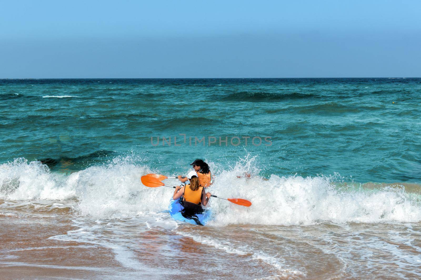
[[(421, 277), (419, 78), (0, 80), (0, 101), (6, 277)], [(253, 205), (172, 220), (140, 177), (195, 158)]]

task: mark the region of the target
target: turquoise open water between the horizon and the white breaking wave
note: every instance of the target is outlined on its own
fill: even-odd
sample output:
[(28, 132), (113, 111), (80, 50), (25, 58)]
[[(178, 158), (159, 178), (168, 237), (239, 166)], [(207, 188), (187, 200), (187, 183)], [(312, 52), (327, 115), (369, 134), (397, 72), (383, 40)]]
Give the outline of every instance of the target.
[(419, 78), (0, 80), (0, 100), (1, 163), (66, 172), (130, 155), (179, 173), (249, 155), (266, 177), (421, 181)]

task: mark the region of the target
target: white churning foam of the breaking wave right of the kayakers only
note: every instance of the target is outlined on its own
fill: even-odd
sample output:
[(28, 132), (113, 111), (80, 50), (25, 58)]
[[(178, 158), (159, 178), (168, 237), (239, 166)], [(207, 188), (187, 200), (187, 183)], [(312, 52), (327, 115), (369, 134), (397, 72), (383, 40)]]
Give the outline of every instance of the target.
[[(224, 183), (222, 183), (224, 182)], [(236, 186), (226, 188), (225, 186)], [(417, 222), (421, 208), (402, 191), (338, 191), (328, 178), (278, 177), (238, 179), (228, 172), (221, 174), (213, 186), (223, 197), (246, 198), (248, 208), (222, 205), (216, 208), (212, 223), (251, 223), (267, 225), (310, 225), (322, 221), (333, 223)]]

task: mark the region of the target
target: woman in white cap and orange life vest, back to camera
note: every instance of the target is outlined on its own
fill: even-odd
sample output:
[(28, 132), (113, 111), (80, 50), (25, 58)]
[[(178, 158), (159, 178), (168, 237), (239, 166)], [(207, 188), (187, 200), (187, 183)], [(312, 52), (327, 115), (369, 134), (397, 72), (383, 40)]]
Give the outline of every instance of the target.
[(208, 204), (210, 193), (205, 193), (205, 189), (200, 186), (199, 178), (197, 178), (197, 173), (195, 171), (190, 171), (189, 174), (187, 174), (187, 178), (190, 181), (190, 184), (183, 187), (176, 186), (173, 200), (177, 200), (184, 195), (183, 200), (180, 202), (184, 207), (184, 213), (182, 214), (191, 216), (203, 212), (200, 205), (206, 206)]

